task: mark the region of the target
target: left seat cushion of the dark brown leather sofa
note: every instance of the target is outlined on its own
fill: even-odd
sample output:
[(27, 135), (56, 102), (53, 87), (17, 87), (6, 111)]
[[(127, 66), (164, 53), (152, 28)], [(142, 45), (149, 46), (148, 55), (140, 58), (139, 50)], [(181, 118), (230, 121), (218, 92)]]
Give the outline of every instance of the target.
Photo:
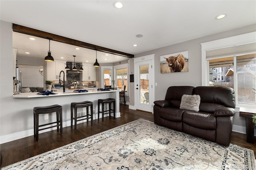
[(184, 111), (185, 110), (178, 108), (165, 107), (160, 109), (159, 116), (168, 121), (182, 122), (182, 114)]

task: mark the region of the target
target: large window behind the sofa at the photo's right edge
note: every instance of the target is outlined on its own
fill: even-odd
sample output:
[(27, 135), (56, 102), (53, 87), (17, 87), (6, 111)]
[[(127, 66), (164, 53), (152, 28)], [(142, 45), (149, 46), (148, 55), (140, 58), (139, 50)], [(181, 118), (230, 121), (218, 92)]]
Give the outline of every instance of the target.
[(256, 89), (256, 53), (209, 59), (209, 76), (210, 86), (235, 90), (238, 106), (255, 107), (256, 94), (252, 92)]

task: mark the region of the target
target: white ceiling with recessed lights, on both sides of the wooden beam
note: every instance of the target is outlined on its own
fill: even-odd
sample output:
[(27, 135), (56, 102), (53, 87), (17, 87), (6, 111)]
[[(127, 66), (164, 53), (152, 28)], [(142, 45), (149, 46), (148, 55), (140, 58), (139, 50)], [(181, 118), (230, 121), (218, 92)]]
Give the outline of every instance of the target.
[[(112, 0), (0, 0), (0, 19), (22, 26), (57, 34), (86, 43), (138, 54), (159, 47), (208, 36), (218, 32), (256, 24), (255, 0), (122, 0), (123, 8), (113, 7)], [(215, 20), (219, 14), (226, 18)], [(16, 33), (17, 34), (17, 33)], [(14, 47), (20, 55), (45, 57), (48, 40), (39, 38), (26, 45), (27, 38), (14, 34)], [(136, 38), (142, 34), (142, 38)], [(16, 37), (17, 36), (17, 37)], [(16, 42), (20, 41), (20, 42)], [(95, 51), (74, 51), (72, 45), (57, 45), (51, 41), (54, 59), (77, 55), (77, 60), (95, 61)], [(133, 47), (137, 44), (137, 47)], [(23, 46), (20, 46), (23, 45)], [(34, 47), (38, 45), (38, 47)], [(99, 63), (123, 61), (115, 56)], [(70, 59), (67, 59), (70, 60)]]

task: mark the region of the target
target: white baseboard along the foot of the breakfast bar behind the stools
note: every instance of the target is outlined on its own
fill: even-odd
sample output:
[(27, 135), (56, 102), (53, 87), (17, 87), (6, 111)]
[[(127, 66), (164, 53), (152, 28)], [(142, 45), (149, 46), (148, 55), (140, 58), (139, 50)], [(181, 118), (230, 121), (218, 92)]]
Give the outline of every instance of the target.
[[(104, 115), (104, 117), (107, 117), (107, 116), (108, 115)], [(111, 113), (111, 116), (112, 117), (114, 116), (113, 113)], [(120, 117), (120, 112), (116, 113), (116, 118), (117, 117)], [(92, 118), (93, 118), (93, 120), (98, 119), (98, 115), (95, 114), (95, 115), (93, 115)], [(100, 114), (100, 118), (102, 118), (101, 114)], [(84, 122), (86, 122), (86, 120), (78, 121), (77, 124), (84, 123)], [(70, 127), (70, 125), (71, 125), (71, 121), (62, 122), (62, 127)], [(56, 130), (56, 129), (57, 129), (57, 127), (48, 128), (48, 129), (45, 129), (45, 130), (40, 130), (39, 134), (44, 133), (44, 132), (49, 132), (51, 130)], [(34, 136), (34, 129), (24, 130), (24, 131), (21, 131), (21, 132), (15, 132), (15, 133), (12, 133), (12, 134), (6, 134), (6, 135), (3, 135), (3, 136), (0, 136), (0, 144), (6, 143), (6, 142), (11, 142), (13, 140), (18, 140), (18, 139), (21, 139), (21, 138), (26, 138), (28, 136)]]

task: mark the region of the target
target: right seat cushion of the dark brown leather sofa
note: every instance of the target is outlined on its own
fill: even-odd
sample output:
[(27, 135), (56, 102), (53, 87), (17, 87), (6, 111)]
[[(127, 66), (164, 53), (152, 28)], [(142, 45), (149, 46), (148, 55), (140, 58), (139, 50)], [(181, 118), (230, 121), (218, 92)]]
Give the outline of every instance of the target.
[(183, 123), (201, 129), (216, 129), (216, 118), (210, 113), (185, 110), (183, 113)]

